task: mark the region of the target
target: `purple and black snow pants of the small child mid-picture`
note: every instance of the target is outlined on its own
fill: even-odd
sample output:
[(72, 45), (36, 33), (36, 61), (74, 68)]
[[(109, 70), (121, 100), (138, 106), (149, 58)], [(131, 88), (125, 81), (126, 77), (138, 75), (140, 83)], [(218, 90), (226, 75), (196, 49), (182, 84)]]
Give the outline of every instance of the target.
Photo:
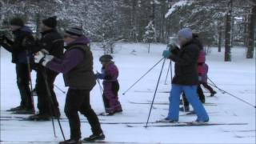
[(118, 100), (119, 83), (115, 82), (103, 82), (103, 101), (106, 113), (114, 113), (116, 111), (122, 111), (122, 106)]

